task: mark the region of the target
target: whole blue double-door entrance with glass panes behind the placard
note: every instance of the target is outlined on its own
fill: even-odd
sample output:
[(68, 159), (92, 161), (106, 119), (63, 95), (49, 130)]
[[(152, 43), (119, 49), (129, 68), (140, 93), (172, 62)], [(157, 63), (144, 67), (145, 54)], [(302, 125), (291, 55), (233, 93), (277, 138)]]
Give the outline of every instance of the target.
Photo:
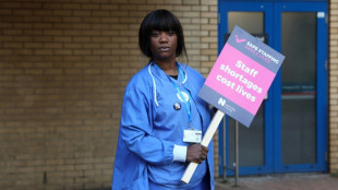
[[(218, 9), (219, 52), (238, 25), (286, 56), (251, 127), (240, 124), (239, 174), (327, 171), (327, 2), (219, 0)], [(231, 176), (234, 120), (225, 123), (219, 174)]]

